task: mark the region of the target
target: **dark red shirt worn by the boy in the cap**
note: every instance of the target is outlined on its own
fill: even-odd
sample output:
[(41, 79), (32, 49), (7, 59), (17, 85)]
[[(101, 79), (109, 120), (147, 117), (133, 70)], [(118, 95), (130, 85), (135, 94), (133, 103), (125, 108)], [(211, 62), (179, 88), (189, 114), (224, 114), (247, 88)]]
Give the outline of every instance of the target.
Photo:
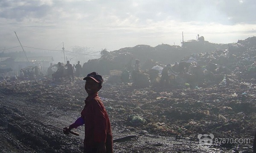
[(81, 112), (85, 127), (84, 148), (95, 149), (100, 142), (105, 142), (107, 153), (112, 153), (113, 136), (111, 124), (98, 93), (89, 95), (84, 102), (85, 106)]

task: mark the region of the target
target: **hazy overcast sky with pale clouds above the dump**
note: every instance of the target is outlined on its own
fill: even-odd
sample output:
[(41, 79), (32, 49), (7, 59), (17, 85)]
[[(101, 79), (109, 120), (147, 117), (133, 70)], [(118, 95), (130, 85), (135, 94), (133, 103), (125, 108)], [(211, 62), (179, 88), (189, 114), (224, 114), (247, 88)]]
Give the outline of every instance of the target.
[[(256, 35), (255, 0), (0, 0), (0, 51), (19, 46), (96, 52), (181, 45), (203, 35), (235, 43)], [(9, 49), (12, 50), (12, 49)], [(21, 48), (13, 50), (22, 51)]]

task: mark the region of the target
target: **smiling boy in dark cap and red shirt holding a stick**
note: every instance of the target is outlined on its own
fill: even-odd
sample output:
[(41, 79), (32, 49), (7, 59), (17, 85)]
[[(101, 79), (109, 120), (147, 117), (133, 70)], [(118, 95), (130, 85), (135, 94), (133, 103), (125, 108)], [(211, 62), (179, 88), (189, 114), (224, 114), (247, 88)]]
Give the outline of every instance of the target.
[(84, 124), (84, 153), (113, 153), (113, 136), (111, 124), (105, 107), (98, 96), (98, 91), (102, 88), (102, 76), (96, 72), (89, 73), (84, 89), (88, 93), (84, 100), (85, 106), (81, 112), (81, 117), (68, 128), (64, 128), (64, 133), (68, 134), (71, 129)]

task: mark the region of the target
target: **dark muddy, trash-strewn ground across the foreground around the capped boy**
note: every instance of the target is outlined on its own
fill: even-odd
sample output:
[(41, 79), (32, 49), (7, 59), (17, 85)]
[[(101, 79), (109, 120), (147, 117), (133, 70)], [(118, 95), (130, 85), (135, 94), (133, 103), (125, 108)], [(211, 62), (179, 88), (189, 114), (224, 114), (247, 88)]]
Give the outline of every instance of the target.
[[(246, 94), (245, 94), (246, 92)], [(108, 111), (116, 153), (252, 152), (256, 90), (233, 82), (200, 89), (138, 88), (104, 83), (99, 96)], [(64, 135), (84, 107), (84, 81), (3, 81), (0, 83), (1, 153), (79, 153), (80, 136)], [(129, 117), (130, 115), (130, 117)], [(131, 116), (140, 117), (131, 120)], [(198, 134), (214, 135), (211, 146)], [(222, 142), (220, 140), (222, 139)], [(242, 143), (224, 142), (240, 139)], [(245, 141), (247, 139), (247, 141)]]

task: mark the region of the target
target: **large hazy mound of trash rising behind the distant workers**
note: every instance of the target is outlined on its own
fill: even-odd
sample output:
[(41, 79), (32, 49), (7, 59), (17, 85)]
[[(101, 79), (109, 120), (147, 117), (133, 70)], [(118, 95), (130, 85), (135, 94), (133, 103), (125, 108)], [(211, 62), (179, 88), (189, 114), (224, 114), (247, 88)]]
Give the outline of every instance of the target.
[[(84, 63), (82, 73), (87, 74), (91, 71), (97, 71), (102, 75), (109, 75), (111, 70), (122, 71), (126, 69), (131, 71), (135, 60), (141, 61), (143, 71), (153, 66), (163, 66), (168, 63), (174, 63), (177, 59), (189, 56), (193, 53), (212, 52), (218, 48), (227, 48), (225, 44), (205, 43), (203, 48), (200, 46), (171, 46), (161, 44), (155, 47), (148, 45), (137, 45), (134, 47), (125, 47), (119, 50), (108, 52), (102, 50), (101, 58), (92, 59)], [(201, 48), (201, 49), (200, 49)]]

